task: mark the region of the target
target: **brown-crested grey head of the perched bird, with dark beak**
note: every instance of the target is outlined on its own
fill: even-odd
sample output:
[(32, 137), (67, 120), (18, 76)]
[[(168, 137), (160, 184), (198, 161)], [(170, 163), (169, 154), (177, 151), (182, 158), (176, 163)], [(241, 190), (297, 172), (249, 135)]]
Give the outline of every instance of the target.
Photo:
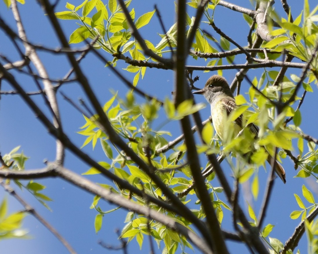
[(218, 95), (227, 95), (233, 97), (229, 84), (226, 79), (219, 75), (211, 76), (205, 83), (204, 88), (192, 92), (193, 94), (202, 94), (211, 104)]

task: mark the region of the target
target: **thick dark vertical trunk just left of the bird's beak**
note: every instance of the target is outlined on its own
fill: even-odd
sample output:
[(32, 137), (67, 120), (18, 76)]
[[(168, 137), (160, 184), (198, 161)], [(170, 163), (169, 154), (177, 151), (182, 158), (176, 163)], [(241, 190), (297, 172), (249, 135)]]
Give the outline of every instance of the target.
[[(185, 37), (186, 24), (186, 3), (185, 0), (177, 2), (177, 49), (175, 55), (175, 106), (180, 105), (184, 100), (190, 97), (190, 89), (185, 77), (185, 62), (188, 55), (188, 45)], [(190, 170), (194, 181), (196, 182), (199, 199), (203, 206), (209, 234), (204, 234), (205, 241), (210, 244), (215, 253), (226, 254), (228, 250), (225, 245), (223, 235), (218, 223), (215, 210), (211, 203), (209, 193), (205, 187), (204, 178), (201, 174), (200, 163), (197, 154), (196, 144), (192, 135), (189, 116), (180, 120), (181, 128), (184, 134), (184, 142), (187, 147), (187, 160), (189, 161)], [(200, 122), (201, 124), (201, 122)]]

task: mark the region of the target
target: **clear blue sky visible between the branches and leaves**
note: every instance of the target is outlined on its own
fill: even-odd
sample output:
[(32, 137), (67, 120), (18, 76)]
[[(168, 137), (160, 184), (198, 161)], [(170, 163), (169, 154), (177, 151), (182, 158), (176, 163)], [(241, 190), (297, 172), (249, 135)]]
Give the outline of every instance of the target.
[[(232, 3), (240, 4), (246, 8), (252, 8), (249, 1), (232, 1)], [(57, 11), (65, 10), (65, 1), (60, 1), (57, 7)], [(81, 1), (74, 0), (70, 3), (74, 5), (79, 5)], [(175, 9), (174, 3), (170, 0), (161, 0), (161, 1), (141, 1), (133, 0), (130, 8), (134, 7), (136, 11), (136, 17), (139, 17), (145, 12), (152, 11), (154, 9), (153, 5), (157, 4), (161, 15), (163, 17), (165, 26), (169, 28), (175, 21)], [(292, 7), (292, 14), (297, 17), (302, 10), (302, 1), (293, 0), (288, 1), (289, 5)], [(311, 9), (315, 7), (314, 0), (309, 1)], [(283, 10), (281, 8), (280, 2), (276, 1), (275, 3), (276, 10), (285, 17)], [(48, 47), (56, 47), (58, 42), (55, 38), (55, 35), (52, 32), (51, 26), (47, 21), (47, 17), (44, 16), (43, 11), (36, 3), (36, 1), (26, 1), (24, 5), (19, 4), (19, 10), (21, 12), (22, 21), (25, 26), (27, 36), (31, 42), (36, 44), (45, 45)], [(188, 8), (188, 11), (191, 15), (194, 15), (192, 8)], [(4, 3), (0, 2), (0, 16), (8, 22), (11, 27), (15, 27), (15, 22), (12, 17), (10, 10), (4, 6)], [(72, 31), (77, 27), (73, 20), (61, 20), (60, 23), (63, 26), (63, 29), (66, 35), (70, 35)], [(244, 22), (242, 15), (240, 13), (233, 12), (231, 10), (225, 9), (224, 7), (218, 6), (215, 14), (215, 23), (219, 26), (222, 31), (230, 35), (236, 42), (241, 45), (246, 45), (246, 35), (248, 31), (248, 26)], [(162, 33), (158, 21), (154, 16), (149, 23), (149, 25), (141, 29), (141, 33), (145, 39), (152, 41), (154, 44), (157, 44), (160, 41), (157, 32)], [(0, 31), (0, 53), (9, 57), (10, 60), (15, 61), (18, 58), (16, 51), (13, 46), (10, 44), (10, 41), (3, 36), (3, 32)], [(218, 38), (218, 37), (217, 37)], [(74, 45), (78, 47), (79, 45)], [(231, 48), (234, 48), (231, 46)], [(65, 73), (69, 70), (69, 64), (66, 61), (66, 58), (63, 56), (52, 56), (51, 53), (39, 51), (39, 56), (42, 59), (43, 63), (47, 67), (47, 70), (50, 76), (55, 78), (62, 78)], [(107, 56), (107, 55), (106, 55)], [(108, 56), (110, 59), (110, 57)], [(236, 59), (236, 63), (244, 63), (244, 58)], [(204, 61), (196, 62), (188, 58), (189, 65), (204, 65)], [(99, 62), (92, 54), (86, 56), (86, 58), (81, 63), (81, 66), (86, 73), (89, 82), (93, 84), (93, 90), (97, 93), (98, 99), (103, 104), (111, 97), (110, 90), (119, 90), (119, 96), (125, 96), (127, 88), (124, 84), (121, 83), (119, 79), (110, 71), (109, 68), (104, 68), (104, 64)], [(126, 67), (125, 63), (118, 62), (117, 69)], [(300, 70), (293, 70), (295, 74), (300, 74)], [(16, 74), (18, 81), (20, 81), (25, 89), (28, 91), (35, 91), (31, 79), (26, 77), (23, 74), (19, 74), (16, 71), (13, 71)], [(121, 71), (125, 77), (130, 80), (133, 79), (131, 73)], [(236, 71), (224, 71), (223, 75), (228, 80), (231, 81), (235, 76)], [(208, 79), (214, 73), (202, 73), (194, 72), (194, 76), (199, 75), (200, 79), (196, 83), (196, 86), (203, 87), (205, 80)], [(253, 79), (254, 76), (259, 75), (260, 72), (253, 71), (249, 73), (250, 79)], [(146, 75), (143, 80), (138, 83), (139, 88), (144, 89), (145, 91), (150, 91), (153, 95), (158, 96), (160, 99), (165, 97), (171, 97), (171, 91), (173, 90), (173, 72), (156, 70), (156, 69), (147, 69)], [(149, 89), (149, 87), (151, 87)], [(247, 91), (249, 88), (248, 84), (243, 84), (242, 92)], [(6, 82), (3, 82), (2, 90), (12, 90)], [(313, 105), (316, 105), (316, 96), (317, 88), (313, 87), (314, 93), (308, 93), (305, 103), (302, 106), (302, 119), (301, 128), (306, 134), (318, 137), (317, 128), (318, 118), (317, 113), (314, 113), (313, 117)], [(77, 101), (79, 98), (84, 98), (85, 96), (78, 85), (76, 84), (67, 84), (64, 85), (61, 89), (74, 101)], [(39, 96), (32, 97), (38, 102), (41, 107), (47, 113), (47, 109), (42, 103), (42, 98)], [(137, 96), (139, 101), (142, 99)], [(204, 102), (204, 98), (196, 98), (197, 102)], [(65, 131), (70, 136), (71, 140), (81, 146), (84, 142), (84, 137), (76, 134), (79, 131), (79, 127), (84, 124), (84, 119), (80, 113), (78, 113), (72, 106), (66, 103), (65, 100), (59, 95), (58, 102), (60, 103), (60, 111), (62, 121), (65, 122)], [(201, 117), (203, 119), (208, 118), (210, 114), (210, 108), (206, 107), (202, 110)], [(160, 124), (158, 123), (157, 126)], [(155, 124), (156, 127), (156, 124)], [(169, 128), (169, 131), (173, 134), (173, 137), (176, 137), (179, 134), (178, 124), (170, 124), (165, 126)], [(171, 140), (173, 139), (171, 137)], [(168, 138), (169, 139), (169, 138)], [(37, 120), (31, 110), (25, 105), (17, 95), (2, 95), (0, 100), (0, 151), (1, 154), (10, 152), (11, 149), (20, 145), (24, 153), (31, 157), (30, 160), (26, 163), (27, 169), (43, 168), (43, 160), (47, 159), (53, 161), (55, 158), (55, 141), (48, 135), (47, 130), (41, 125)], [(96, 147), (94, 151), (90, 145), (83, 148), (83, 150), (92, 155), (97, 161), (104, 159), (104, 153), (100, 147)], [(205, 158), (202, 157), (202, 165), (205, 164)], [(83, 173), (87, 171), (88, 166), (83, 164), (77, 158), (75, 158), (71, 153), (66, 152), (66, 164), (65, 167), (69, 168), (77, 173)], [(283, 161), (284, 168), (287, 175), (287, 184), (284, 185), (280, 181), (275, 182), (274, 186), (274, 195), (272, 196), (272, 204), (269, 207), (265, 225), (267, 223), (275, 224), (273, 229), (272, 237), (278, 237), (281, 241), (285, 242), (291, 233), (294, 231), (294, 228), (299, 224), (300, 220), (291, 220), (289, 214), (293, 210), (299, 209), (297, 203), (294, 199), (293, 193), (298, 193), (301, 196), (301, 185), (306, 183), (309, 189), (312, 190), (314, 196), (317, 197), (318, 188), (316, 182), (313, 179), (306, 179), (304, 182), (303, 179), (293, 178), (296, 175), (293, 164), (289, 159)], [(224, 170), (230, 175), (230, 169), (228, 168), (227, 163), (222, 163)], [(107, 180), (100, 179), (99, 176), (88, 176), (91, 180), (96, 182), (105, 182)], [(267, 179), (267, 174), (263, 171), (259, 173), (260, 178), (260, 189), (264, 189), (265, 182)], [(25, 198), (49, 223), (51, 223), (59, 233), (64, 236), (69, 243), (75, 248), (78, 253), (100, 253), (103, 249), (97, 244), (98, 240), (103, 240), (106, 243), (119, 244), (117, 241), (117, 236), (114, 233), (115, 228), (121, 229), (124, 224), (122, 221), (126, 216), (125, 210), (117, 210), (116, 213), (107, 214), (104, 217), (103, 227), (98, 233), (95, 234), (94, 231), (94, 218), (96, 212), (92, 209), (89, 209), (93, 195), (88, 194), (69, 183), (60, 180), (60, 179), (45, 179), (39, 180), (40, 183), (46, 186), (44, 194), (51, 197), (54, 201), (48, 203), (51, 207), (52, 212), (45, 209), (40, 205), (29, 193), (26, 191), (20, 192), (21, 196)], [(109, 181), (108, 181), (109, 183)], [(248, 186), (243, 186), (246, 189)], [(17, 188), (16, 188), (17, 189)], [(4, 191), (0, 191), (2, 200)], [(259, 200), (254, 202), (252, 205), (256, 211), (259, 210), (260, 200), (262, 193), (260, 193)], [(248, 199), (248, 196), (246, 196)], [(241, 201), (242, 206), (246, 206), (244, 200)], [(22, 209), (22, 207), (17, 203), (13, 198), (9, 198), (10, 211), (17, 211)], [(106, 202), (100, 203), (101, 207), (104, 210), (112, 209), (115, 206), (108, 204)], [(226, 216), (226, 215), (225, 215)], [(224, 221), (222, 224), (225, 228), (231, 229), (232, 222)], [(52, 234), (46, 230), (35, 218), (31, 215), (27, 216), (24, 221), (24, 228), (30, 231), (32, 236), (31, 240), (8, 240), (1, 243), (1, 249), (4, 253), (67, 253), (66, 249), (62, 244), (59, 243)], [(306, 238), (304, 238), (299, 245), (302, 253), (307, 251)], [(148, 243), (145, 239), (145, 248), (143, 252), (147, 253)], [(232, 246), (232, 245), (231, 245)], [(233, 245), (234, 246), (234, 245)], [(237, 248), (237, 247), (232, 247)], [(135, 250), (139, 250), (139, 247), (133, 241), (128, 248), (129, 253), (134, 253)], [(232, 249), (234, 250), (234, 249)], [(237, 250), (237, 249), (235, 249)], [(244, 249), (242, 249), (243, 251)], [(191, 251), (188, 251), (191, 253)], [(160, 253), (157, 251), (156, 253)]]

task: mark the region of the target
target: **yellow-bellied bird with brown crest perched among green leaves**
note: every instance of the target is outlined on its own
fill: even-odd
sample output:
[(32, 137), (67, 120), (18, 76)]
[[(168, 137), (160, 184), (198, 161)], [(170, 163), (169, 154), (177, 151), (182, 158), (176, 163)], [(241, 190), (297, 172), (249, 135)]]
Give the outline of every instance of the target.
[[(214, 129), (221, 140), (224, 141), (224, 125), (227, 123), (227, 118), (230, 113), (237, 108), (233, 94), (226, 79), (219, 75), (213, 75), (206, 81), (203, 89), (193, 93), (202, 94), (210, 103)], [(240, 115), (234, 121), (235, 136), (244, 127), (242, 120), (243, 117)], [(259, 128), (256, 125), (250, 124), (248, 128), (253, 134), (255, 134), (256, 137), (258, 136)], [(266, 151), (266, 153), (268, 154), (267, 161), (271, 164), (273, 157), (268, 153), (268, 151)], [(280, 179), (286, 183), (285, 170), (277, 160), (274, 169)]]

